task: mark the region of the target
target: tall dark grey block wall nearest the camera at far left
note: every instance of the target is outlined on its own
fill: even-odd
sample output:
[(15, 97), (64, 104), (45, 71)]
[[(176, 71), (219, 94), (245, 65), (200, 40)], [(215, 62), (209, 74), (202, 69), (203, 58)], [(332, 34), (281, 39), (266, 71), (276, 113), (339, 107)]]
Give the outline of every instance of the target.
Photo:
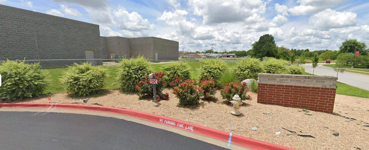
[(0, 60), (101, 59), (99, 25), (0, 5)]

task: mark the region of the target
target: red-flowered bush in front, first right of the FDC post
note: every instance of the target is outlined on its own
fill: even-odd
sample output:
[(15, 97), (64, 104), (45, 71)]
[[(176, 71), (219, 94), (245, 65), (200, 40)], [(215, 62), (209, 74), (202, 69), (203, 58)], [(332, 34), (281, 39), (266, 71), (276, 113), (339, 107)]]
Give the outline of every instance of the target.
[(184, 83), (180, 83), (177, 87), (174, 87), (173, 93), (179, 99), (180, 105), (200, 104), (201, 92), (195, 83), (196, 80), (185, 80)]

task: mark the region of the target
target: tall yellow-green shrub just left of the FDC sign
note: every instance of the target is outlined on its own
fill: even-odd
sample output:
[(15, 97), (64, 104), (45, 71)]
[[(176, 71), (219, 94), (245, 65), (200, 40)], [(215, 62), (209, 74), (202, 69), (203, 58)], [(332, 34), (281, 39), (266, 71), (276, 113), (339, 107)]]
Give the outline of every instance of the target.
[(151, 71), (150, 62), (144, 56), (131, 57), (131, 59), (122, 59), (120, 70), (117, 74), (117, 83), (119, 89), (127, 92), (135, 92), (139, 81), (146, 80)]

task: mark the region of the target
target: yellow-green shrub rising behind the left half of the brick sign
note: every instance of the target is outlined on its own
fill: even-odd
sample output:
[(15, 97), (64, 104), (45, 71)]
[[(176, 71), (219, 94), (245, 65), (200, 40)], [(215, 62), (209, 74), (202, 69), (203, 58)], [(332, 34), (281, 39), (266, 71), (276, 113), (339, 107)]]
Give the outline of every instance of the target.
[(266, 58), (266, 60), (267, 60), (266, 62), (263, 62), (265, 73), (276, 73), (276, 74), (287, 73), (287, 66), (284, 64), (287, 63), (286, 60), (275, 59), (271, 57)]

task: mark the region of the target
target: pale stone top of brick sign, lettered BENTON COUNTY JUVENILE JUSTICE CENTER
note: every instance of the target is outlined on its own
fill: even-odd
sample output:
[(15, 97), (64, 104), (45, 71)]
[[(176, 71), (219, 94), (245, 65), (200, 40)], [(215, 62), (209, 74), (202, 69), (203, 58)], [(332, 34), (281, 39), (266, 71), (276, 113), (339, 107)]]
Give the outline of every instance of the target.
[(258, 83), (288, 86), (337, 88), (337, 77), (300, 74), (259, 73)]

